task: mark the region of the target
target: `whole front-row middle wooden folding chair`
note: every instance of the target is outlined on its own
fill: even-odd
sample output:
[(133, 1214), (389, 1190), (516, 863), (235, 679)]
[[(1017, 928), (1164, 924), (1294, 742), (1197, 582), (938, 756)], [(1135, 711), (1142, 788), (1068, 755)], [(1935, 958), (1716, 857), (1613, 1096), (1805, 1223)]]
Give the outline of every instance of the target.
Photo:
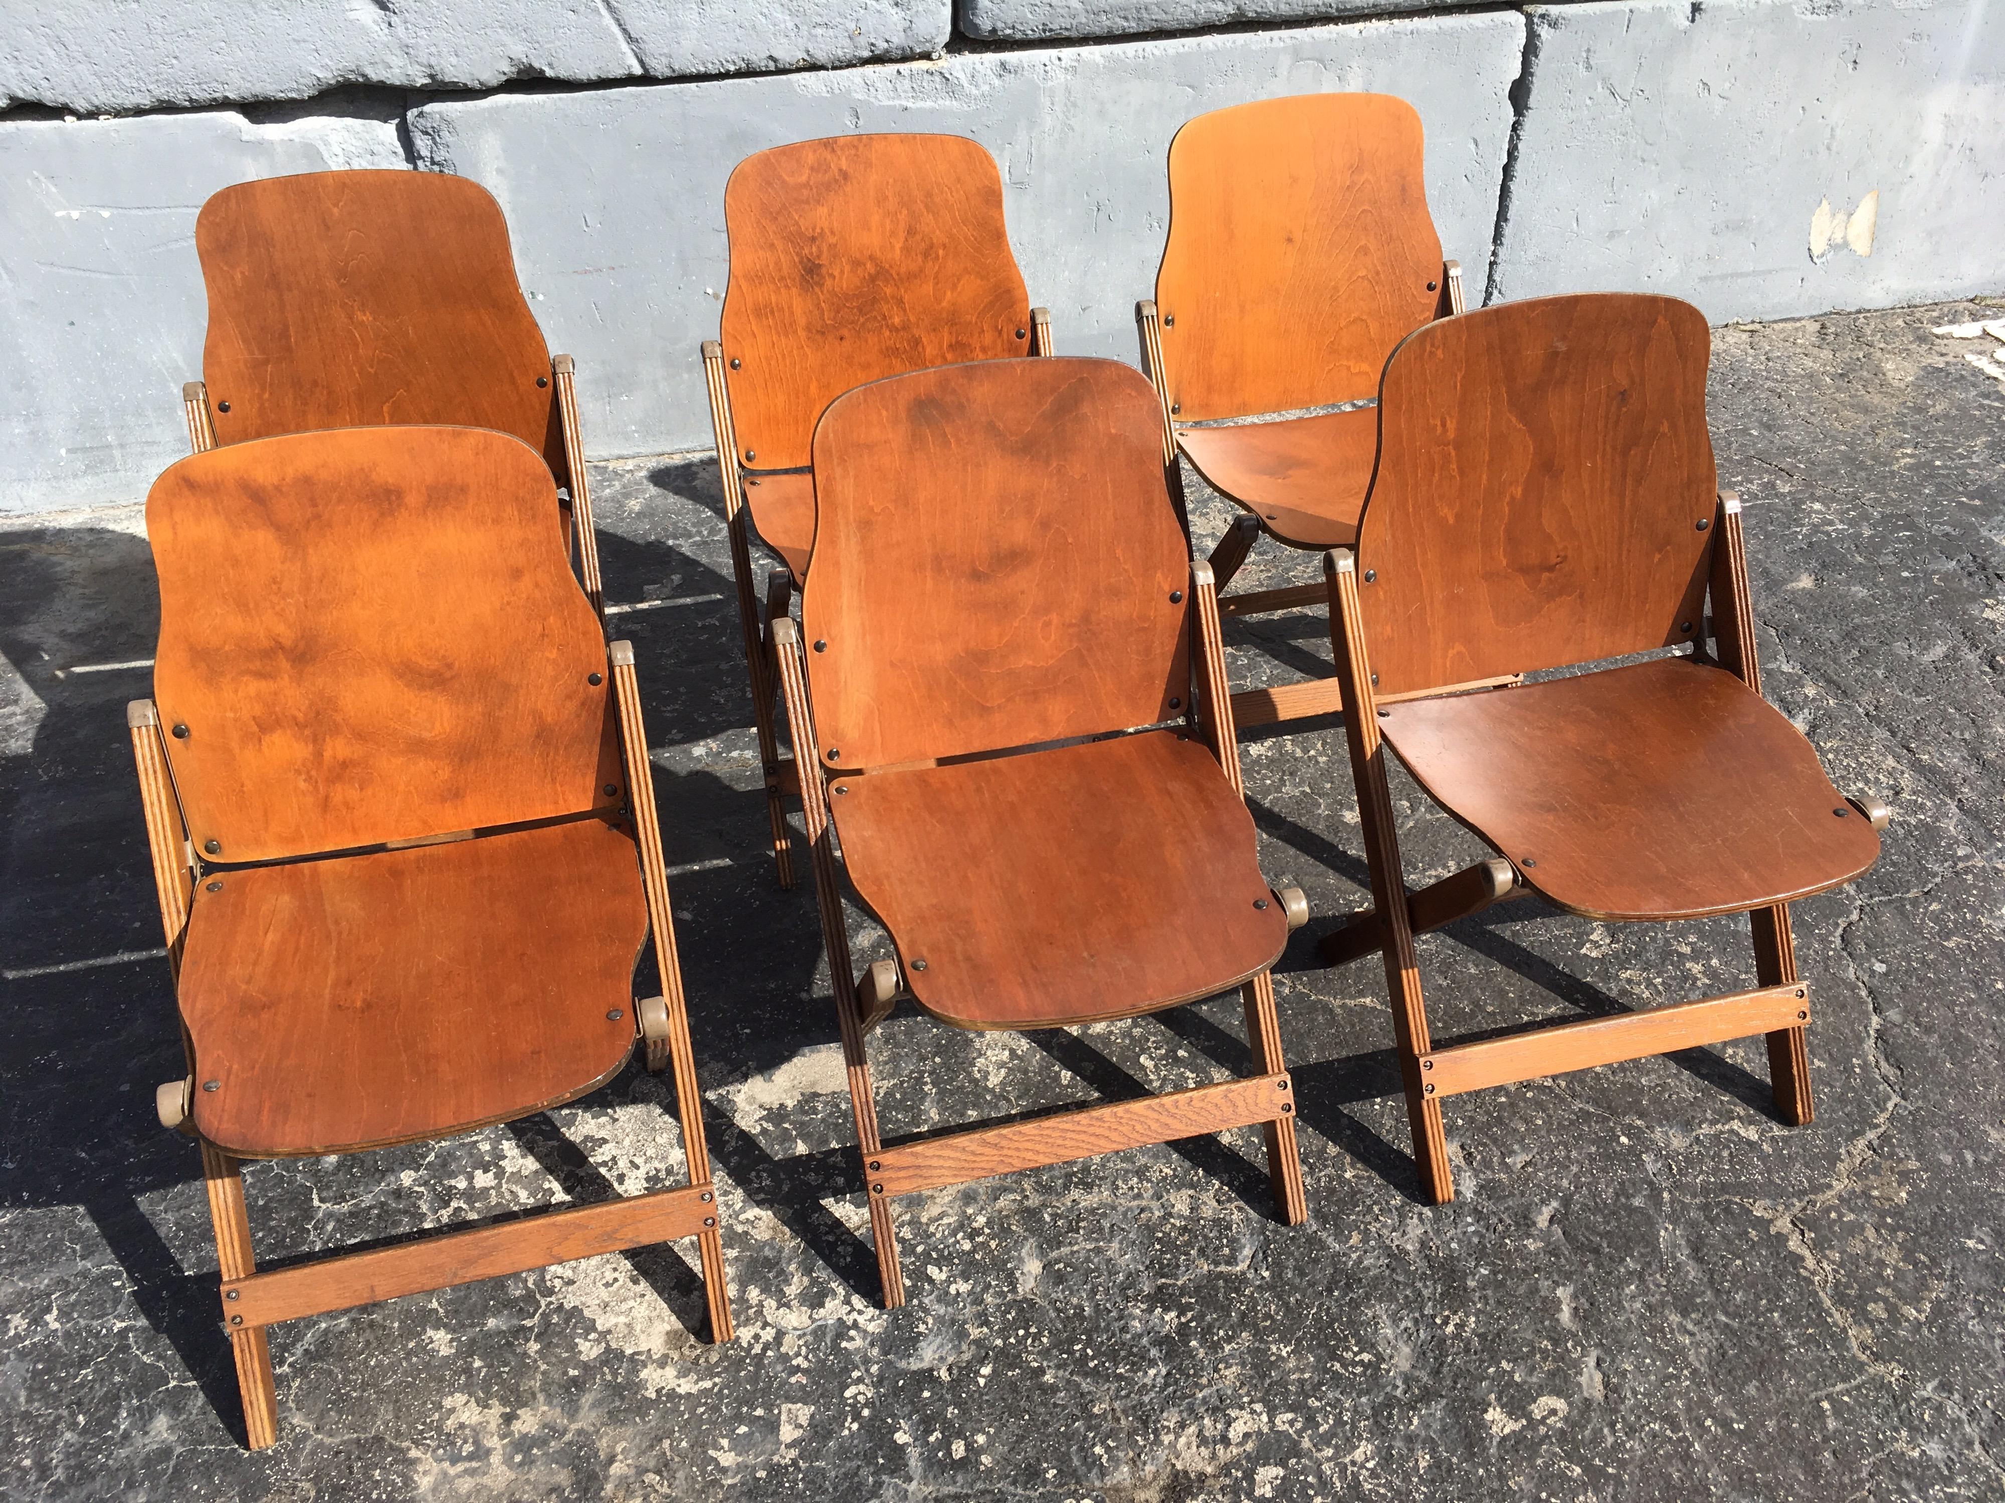
[[(822, 417), (814, 501), (802, 625), (774, 639), (884, 1305), (904, 1303), (892, 1198), (1017, 1168), (1259, 1122), (1303, 1220), (1267, 968), (1307, 908), (1259, 872), (1211, 569), (1171, 507), (1149, 385), (1077, 359), (878, 381)], [(862, 978), (838, 838), (898, 950)], [(864, 1036), (900, 994), (958, 1028), (1063, 1028), (1231, 988), (1249, 1078), (878, 1134)]]

